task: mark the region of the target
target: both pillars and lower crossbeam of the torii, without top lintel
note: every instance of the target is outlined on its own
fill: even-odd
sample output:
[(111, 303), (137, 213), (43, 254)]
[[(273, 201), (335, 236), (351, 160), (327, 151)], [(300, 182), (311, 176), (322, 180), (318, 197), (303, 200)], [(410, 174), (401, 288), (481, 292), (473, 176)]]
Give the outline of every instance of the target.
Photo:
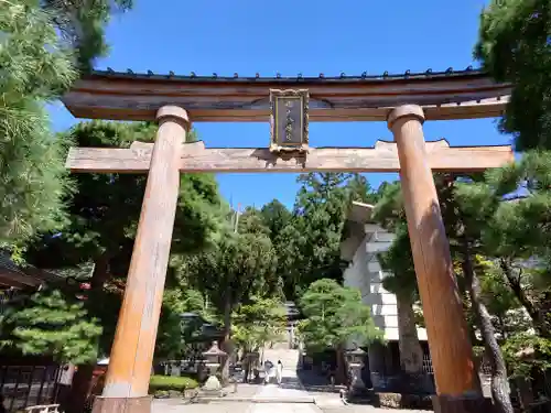
[(514, 159), (510, 146), (425, 143), (424, 113), (419, 106), (390, 111), (388, 126), (396, 143), (310, 148), (299, 155), (272, 153), (263, 148), (206, 149), (202, 142), (184, 143), (190, 120), (180, 107), (162, 107), (156, 119), (160, 127), (154, 144), (73, 148), (67, 156), (66, 166), (73, 172), (149, 173), (106, 385), (94, 413), (151, 410), (148, 388), (182, 172), (400, 172), (435, 372), (434, 409), (445, 413), (487, 410), (473, 363), (432, 172), (501, 166)]

